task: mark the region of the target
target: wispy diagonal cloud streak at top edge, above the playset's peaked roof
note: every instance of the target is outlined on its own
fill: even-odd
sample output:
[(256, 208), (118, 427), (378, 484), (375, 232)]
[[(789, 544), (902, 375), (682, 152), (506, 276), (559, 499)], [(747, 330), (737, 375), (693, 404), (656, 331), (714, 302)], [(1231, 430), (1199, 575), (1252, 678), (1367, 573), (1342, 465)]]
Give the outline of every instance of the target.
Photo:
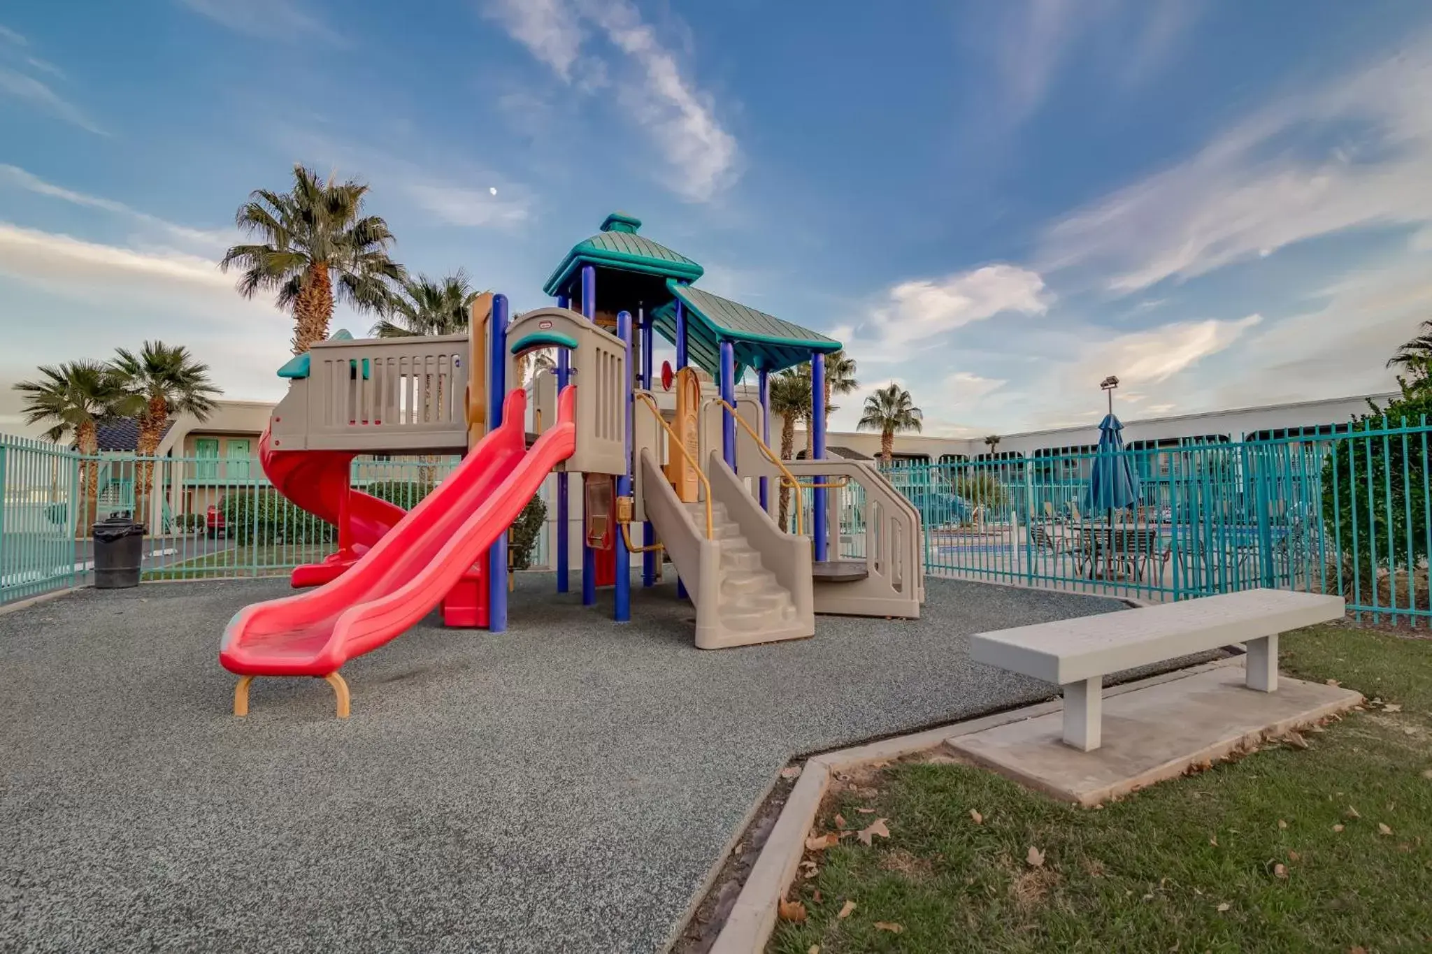
[[(617, 83), (627, 119), (656, 143), (670, 169), (666, 185), (692, 202), (710, 202), (740, 174), (740, 150), (716, 117), (709, 93), (682, 74), (654, 29), (627, 0), (494, 0), (488, 16), (564, 82), (584, 92)], [(583, 56), (590, 23), (630, 64)]]

